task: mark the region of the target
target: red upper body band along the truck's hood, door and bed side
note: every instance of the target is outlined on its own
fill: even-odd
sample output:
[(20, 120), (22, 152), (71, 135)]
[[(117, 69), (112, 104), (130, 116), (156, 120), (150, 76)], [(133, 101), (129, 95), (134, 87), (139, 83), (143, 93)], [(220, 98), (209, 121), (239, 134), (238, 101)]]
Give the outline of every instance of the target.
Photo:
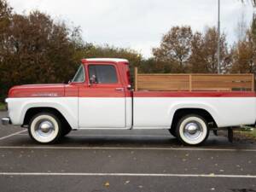
[(90, 87), (85, 84), (40, 84), (15, 86), (9, 90), (9, 98), (13, 97), (256, 97), (252, 91), (234, 92), (183, 92), (183, 91), (135, 91), (126, 88), (116, 90), (122, 85), (99, 85)]

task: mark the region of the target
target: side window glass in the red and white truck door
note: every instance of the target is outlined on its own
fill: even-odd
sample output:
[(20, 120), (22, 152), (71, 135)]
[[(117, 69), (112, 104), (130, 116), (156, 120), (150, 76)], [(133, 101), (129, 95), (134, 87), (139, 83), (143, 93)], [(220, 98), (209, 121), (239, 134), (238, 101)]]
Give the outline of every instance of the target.
[(90, 65), (90, 84), (116, 84), (118, 83), (115, 67), (112, 65)]

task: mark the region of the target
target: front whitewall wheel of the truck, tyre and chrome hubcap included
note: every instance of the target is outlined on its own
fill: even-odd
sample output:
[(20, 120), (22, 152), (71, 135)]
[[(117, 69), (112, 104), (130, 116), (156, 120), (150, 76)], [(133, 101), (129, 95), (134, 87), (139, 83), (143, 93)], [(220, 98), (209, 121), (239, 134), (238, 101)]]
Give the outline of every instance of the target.
[(28, 132), (37, 143), (55, 143), (62, 135), (61, 121), (52, 113), (38, 113), (31, 119)]

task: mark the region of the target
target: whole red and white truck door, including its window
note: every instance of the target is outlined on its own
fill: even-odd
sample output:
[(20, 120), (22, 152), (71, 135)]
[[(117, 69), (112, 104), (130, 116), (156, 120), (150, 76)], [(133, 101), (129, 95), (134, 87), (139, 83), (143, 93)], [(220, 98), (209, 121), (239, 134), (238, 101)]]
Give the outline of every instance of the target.
[(86, 65), (88, 84), (79, 87), (80, 128), (125, 128), (125, 88), (115, 64)]

